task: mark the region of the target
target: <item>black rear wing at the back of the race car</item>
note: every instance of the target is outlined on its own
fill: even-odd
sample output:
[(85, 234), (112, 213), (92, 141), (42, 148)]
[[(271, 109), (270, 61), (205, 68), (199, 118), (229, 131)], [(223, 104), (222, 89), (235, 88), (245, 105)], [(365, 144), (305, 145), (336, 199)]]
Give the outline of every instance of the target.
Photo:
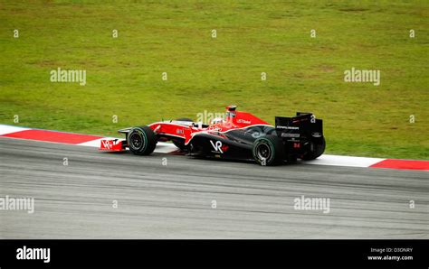
[(317, 139), (323, 137), (323, 121), (312, 113), (297, 112), (292, 117), (275, 117), (277, 135), (281, 138), (300, 140), (302, 138)]

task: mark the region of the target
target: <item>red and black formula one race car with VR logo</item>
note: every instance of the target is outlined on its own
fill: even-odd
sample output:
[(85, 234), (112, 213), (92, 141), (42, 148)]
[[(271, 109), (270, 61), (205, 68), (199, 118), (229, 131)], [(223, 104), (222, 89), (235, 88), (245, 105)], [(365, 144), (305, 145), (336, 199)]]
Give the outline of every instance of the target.
[(313, 160), (325, 151), (322, 120), (311, 113), (275, 117), (275, 126), (247, 112), (226, 107), (224, 117), (210, 125), (188, 118), (119, 130), (126, 139), (101, 140), (100, 150), (148, 155), (157, 142), (171, 141), (189, 155), (234, 160), (254, 160), (261, 165)]

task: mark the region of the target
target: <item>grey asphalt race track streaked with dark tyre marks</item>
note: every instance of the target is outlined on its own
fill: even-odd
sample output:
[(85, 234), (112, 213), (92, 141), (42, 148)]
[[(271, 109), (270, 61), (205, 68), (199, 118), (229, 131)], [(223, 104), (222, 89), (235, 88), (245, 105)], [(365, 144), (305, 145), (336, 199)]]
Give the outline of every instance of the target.
[[(35, 210), (0, 210), (1, 238), (429, 238), (424, 171), (261, 167), (0, 137), (6, 195), (33, 197)], [(301, 195), (329, 198), (329, 213), (294, 209)]]

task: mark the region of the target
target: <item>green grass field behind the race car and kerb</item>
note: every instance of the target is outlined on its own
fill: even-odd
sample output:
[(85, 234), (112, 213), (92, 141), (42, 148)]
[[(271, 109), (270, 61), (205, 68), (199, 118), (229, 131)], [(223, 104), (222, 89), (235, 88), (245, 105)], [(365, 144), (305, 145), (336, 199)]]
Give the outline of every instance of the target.
[[(2, 1), (0, 123), (14, 125), (18, 115), (17, 125), (114, 135), (235, 104), (272, 124), (274, 116), (313, 112), (324, 120), (327, 153), (429, 159), (428, 7)], [(58, 67), (87, 70), (87, 85), (50, 82)], [(352, 67), (381, 70), (381, 85), (345, 83)]]

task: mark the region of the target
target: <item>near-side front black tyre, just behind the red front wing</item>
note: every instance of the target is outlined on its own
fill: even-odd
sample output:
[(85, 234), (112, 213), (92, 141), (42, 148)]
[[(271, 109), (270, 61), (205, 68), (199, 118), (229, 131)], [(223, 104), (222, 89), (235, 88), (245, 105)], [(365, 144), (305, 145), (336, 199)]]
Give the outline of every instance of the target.
[(153, 153), (157, 146), (157, 135), (148, 126), (133, 127), (127, 136), (129, 151), (136, 155)]

